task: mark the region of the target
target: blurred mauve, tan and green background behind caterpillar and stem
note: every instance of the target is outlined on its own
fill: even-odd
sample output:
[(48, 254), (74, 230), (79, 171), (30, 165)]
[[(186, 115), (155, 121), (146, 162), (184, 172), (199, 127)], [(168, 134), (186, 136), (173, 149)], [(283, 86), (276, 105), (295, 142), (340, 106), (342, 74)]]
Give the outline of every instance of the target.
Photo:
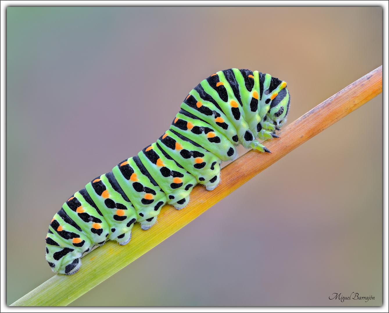
[[(381, 7), (7, 7), (7, 303), (54, 275), (63, 202), (155, 142), (210, 74), (286, 80), (291, 123), (381, 64)], [(71, 305), (381, 303), (379, 95)]]

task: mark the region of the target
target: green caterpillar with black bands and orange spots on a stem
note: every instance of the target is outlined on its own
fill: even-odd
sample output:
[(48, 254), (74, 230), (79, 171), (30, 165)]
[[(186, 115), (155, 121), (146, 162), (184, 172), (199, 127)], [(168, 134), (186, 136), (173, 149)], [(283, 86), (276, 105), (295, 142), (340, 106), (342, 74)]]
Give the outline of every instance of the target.
[(46, 236), (51, 269), (72, 275), (94, 246), (127, 244), (135, 222), (152, 227), (164, 204), (184, 208), (196, 184), (213, 190), (220, 164), (238, 157), (239, 144), (271, 153), (258, 140), (278, 138), (289, 112), (286, 86), (270, 74), (235, 68), (203, 80), (156, 142), (91, 180), (54, 215)]

